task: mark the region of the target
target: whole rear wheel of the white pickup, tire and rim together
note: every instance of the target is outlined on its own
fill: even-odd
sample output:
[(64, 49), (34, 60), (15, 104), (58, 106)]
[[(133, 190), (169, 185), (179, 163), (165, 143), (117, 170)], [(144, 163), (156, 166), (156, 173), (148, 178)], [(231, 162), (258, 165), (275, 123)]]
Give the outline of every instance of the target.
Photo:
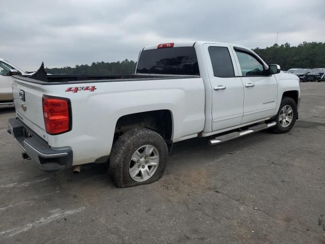
[(117, 187), (150, 184), (164, 173), (168, 148), (158, 133), (138, 128), (123, 134), (113, 145), (109, 171)]

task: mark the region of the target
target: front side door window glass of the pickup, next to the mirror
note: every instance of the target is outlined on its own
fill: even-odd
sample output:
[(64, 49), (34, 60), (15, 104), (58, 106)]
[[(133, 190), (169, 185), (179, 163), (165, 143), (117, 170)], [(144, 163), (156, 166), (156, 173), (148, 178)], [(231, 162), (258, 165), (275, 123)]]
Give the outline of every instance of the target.
[(236, 50), (242, 76), (264, 75), (264, 68), (252, 55)]

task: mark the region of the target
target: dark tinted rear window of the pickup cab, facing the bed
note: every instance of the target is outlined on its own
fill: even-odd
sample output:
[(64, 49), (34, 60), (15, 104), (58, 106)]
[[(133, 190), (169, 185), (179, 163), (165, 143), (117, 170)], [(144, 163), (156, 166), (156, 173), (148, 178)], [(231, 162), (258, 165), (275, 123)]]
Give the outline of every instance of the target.
[(194, 47), (170, 47), (141, 52), (137, 74), (200, 75)]

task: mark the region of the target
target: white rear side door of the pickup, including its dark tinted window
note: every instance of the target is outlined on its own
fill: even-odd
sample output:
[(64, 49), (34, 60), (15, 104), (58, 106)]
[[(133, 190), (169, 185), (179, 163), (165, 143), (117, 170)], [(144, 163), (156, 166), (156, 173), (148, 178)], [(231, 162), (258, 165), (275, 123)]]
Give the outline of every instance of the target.
[(244, 90), (230, 45), (207, 43), (203, 49), (212, 86), (212, 130), (237, 126), (243, 116)]

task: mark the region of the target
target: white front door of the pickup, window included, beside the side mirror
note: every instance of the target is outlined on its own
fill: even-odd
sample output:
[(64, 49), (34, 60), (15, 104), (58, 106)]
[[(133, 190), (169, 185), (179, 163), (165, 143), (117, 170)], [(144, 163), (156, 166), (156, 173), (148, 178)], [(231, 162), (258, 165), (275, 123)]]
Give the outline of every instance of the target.
[(266, 65), (256, 54), (232, 46), (238, 72), (244, 84), (244, 115), (241, 124), (271, 117), (276, 108), (278, 83), (267, 75)]

